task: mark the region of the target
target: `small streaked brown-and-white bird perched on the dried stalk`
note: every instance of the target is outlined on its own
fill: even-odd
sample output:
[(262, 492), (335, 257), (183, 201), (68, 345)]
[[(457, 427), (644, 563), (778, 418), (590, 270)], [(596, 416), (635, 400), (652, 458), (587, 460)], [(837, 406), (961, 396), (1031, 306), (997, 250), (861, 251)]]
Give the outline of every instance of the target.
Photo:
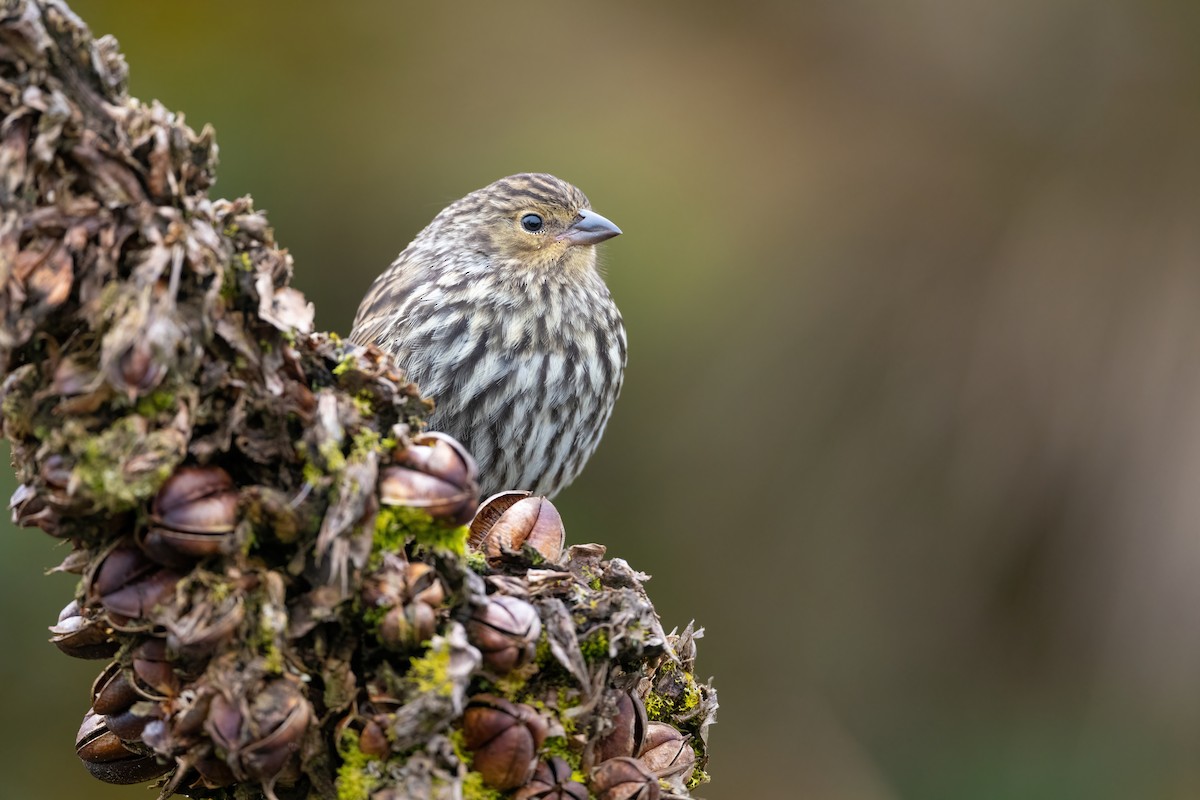
[(626, 336), (596, 245), (620, 228), (544, 173), (502, 178), (442, 210), (380, 273), (349, 338), (391, 353), (460, 440), (482, 495), (547, 498), (600, 443)]

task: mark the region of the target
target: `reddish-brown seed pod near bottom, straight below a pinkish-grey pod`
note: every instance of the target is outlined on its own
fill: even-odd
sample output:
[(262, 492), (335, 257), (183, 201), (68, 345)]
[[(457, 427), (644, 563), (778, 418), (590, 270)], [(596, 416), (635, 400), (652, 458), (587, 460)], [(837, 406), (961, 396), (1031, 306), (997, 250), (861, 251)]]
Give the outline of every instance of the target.
[(515, 789), (534, 771), (546, 740), (546, 721), (532, 706), (492, 694), (476, 694), (462, 716), (462, 734), (474, 753), (472, 769), (497, 789)]

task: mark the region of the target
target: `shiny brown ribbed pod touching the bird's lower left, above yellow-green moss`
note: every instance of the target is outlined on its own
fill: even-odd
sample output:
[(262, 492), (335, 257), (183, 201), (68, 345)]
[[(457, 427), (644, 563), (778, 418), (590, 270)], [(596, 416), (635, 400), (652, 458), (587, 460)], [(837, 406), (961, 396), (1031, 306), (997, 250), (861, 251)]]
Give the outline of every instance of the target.
[(444, 433), (416, 437), (394, 467), (379, 475), (384, 505), (422, 509), (436, 519), (463, 524), (479, 504), (475, 459)]

